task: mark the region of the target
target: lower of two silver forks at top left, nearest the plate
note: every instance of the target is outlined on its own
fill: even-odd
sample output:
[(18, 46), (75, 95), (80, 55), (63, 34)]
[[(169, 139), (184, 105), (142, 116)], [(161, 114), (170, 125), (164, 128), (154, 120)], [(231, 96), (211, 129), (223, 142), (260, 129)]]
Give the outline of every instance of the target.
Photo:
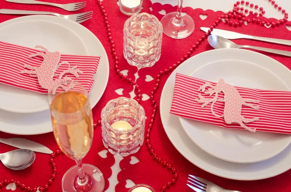
[(82, 23), (92, 18), (93, 11), (81, 13), (81, 14), (73, 14), (73, 15), (61, 15), (53, 12), (45, 12), (45, 11), (23, 11), (23, 10), (15, 10), (15, 9), (0, 9), (0, 14), (16, 14), (16, 15), (55, 15), (59, 17), (63, 17), (69, 20), (76, 21), (77, 23)]

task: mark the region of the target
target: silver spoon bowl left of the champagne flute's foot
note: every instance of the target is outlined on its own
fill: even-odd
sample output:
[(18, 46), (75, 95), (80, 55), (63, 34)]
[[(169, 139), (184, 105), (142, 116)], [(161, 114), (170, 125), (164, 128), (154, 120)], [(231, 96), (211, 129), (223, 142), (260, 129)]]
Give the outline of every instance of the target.
[(16, 149), (0, 154), (0, 160), (9, 169), (21, 170), (34, 162), (35, 153), (29, 149)]

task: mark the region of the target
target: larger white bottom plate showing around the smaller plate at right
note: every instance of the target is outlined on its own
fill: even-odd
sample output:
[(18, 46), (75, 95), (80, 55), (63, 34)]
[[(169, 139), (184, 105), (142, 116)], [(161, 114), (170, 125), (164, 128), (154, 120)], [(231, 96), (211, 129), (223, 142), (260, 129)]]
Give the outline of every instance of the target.
[(254, 51), (241, 49), (216, 49), (198, 54), (183, 62), (167, 79), (162, 90), (160, 112), (164, 130), (172, 144), (190, 162), (211, 174), (237, 180), (258, 180), (274, 177), (291, 168), (291, 146), (275, 157), (262, 162), (235, 163), (218, 159), (196, 146), (184, 132), (178, 116), (169, 113), (175, 74), (191, 75), (205, 64), (218, 60), (237, 59), (256, 63), (277, 75), (291, 89), (291, 71), (275, 59)]

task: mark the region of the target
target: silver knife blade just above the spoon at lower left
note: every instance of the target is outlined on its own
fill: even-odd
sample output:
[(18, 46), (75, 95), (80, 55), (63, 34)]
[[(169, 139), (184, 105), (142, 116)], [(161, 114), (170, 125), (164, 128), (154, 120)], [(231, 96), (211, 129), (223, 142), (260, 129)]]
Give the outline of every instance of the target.
[(8, 138), (8, 139), (0, 138), (0, 143), (4, 143), (16, 148), (30, 149), (32, 151), (40, 152), (40, 153), (47, 153), (47, 154), (52, 153), (52, 150), (50, 150), (46, 146), (40, 143), (28, 140), (28, 139), (24, 139), (24, 138)]

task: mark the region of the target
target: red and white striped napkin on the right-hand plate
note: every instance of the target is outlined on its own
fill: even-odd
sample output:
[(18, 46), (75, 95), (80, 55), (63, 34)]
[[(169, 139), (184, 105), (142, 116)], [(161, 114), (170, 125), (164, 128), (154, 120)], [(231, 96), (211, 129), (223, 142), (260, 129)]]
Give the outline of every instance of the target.
[[(205, 80), (197, 79), (183, 74), (176, 74), (174, 95), (170, 113), (190, 118), (205, 123), (210, 123), (224, 128), (244, 129), (238, 123), (226, 124), (223, 117), (215, 117), (211, 112), (211, 103), (201, 107), (198, 103), (198, 95), (205, 98), (213, 98), (214, 95), (203, 93), (198, 89), (203, 86)], [(216, 83), (209, 82), (212, 86)], [(226, 82), (227, 83), (227, 82)], [(258, 121), (245, 123), (251, 129), (257, 131), (291, 134), (291, 92), (274, 91), (235, 87), (243, 99), (259, 100), (259, 110), (242, 105), (241, 115), (244, 118), (259, 118)], [(224, 93), (220, 93), (218, 99), (224, 99)], [(224, 114), (224, 102), (217, 101), (213, 105), (213, 111), (217, 115)]]

